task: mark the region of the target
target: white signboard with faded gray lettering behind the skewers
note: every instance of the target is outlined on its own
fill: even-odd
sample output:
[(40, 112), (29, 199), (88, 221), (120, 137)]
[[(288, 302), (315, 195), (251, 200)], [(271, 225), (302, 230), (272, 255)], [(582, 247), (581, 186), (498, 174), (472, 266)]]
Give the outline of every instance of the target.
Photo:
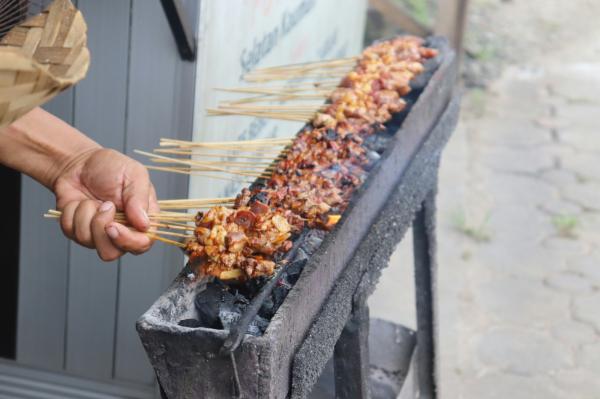
[[(243, 74), (256, 68), (358, 54), (362, 48), (366, 3), (366, 0), (203, 0), (198, 32), (194, 140), (294, 135), (302, 123), (247, 116), (207, 116), (206, 108), (233, 98), (231, 93), (214, 88), (243, 86)], [(190, 198), (235, 195), (246, 185), (193, 176)]]

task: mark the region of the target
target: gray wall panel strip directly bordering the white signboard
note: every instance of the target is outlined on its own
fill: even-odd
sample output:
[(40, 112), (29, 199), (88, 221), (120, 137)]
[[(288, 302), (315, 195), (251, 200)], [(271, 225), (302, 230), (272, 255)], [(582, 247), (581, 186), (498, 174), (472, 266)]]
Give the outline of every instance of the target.
[[(154, 148), (160, 137), (191, 137), (191, 117), (180, 112), (191, 115), (193, 64), (180, 60), (160, 2), (133, 1), (130, 57), (127, 153)], [(189, 93), (189, 98), (183, 93)], [(183, 123), (182, 115), (187, 118)], [(155, 173), (152, 180), (159, 198), (186, 194), (185, 180), (180, 177)], [(165, 289), (173, 271), (181, 268), (177, 251), (158, 243), (148, 254), (121, 261), (115, 351), (118, 379), (154, 381), (134, 323)]]

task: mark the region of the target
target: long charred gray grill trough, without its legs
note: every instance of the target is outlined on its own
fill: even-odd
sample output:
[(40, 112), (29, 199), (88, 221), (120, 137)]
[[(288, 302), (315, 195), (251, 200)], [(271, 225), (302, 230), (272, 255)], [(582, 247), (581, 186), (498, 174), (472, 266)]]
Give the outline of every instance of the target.
[[(439, 157), (458, 114), (458, 100), (451, 101), (454, 54), (446, 45), (440, 53), (440, 66), (379, 164), (309, 259), (264, 335), (246, 335), (235, 351), (242, 397), (308, 395), (333, 355), (357, 288), (362, 284), (366, 293), (373, 290), (389, 255), (435, 189)], [(232, 397), (232, 364), (219, 355), (227, 331), (177, 324), (194, 317), (194, 296), (203, 289), (204, 282), (185, 277), (188, 272), (184, 269), (142, 315), (138, 332), (166, 397)]]

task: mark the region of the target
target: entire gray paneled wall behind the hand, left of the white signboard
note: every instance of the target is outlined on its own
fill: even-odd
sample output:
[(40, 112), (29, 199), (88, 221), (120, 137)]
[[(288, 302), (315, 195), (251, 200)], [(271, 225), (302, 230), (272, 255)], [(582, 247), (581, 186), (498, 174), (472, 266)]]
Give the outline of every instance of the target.
[[(198, 3), (183, 2), (186, 17), (198, 15)], [(78, 5), (89, 27), (90, 71), (75, 95), (63, 94), (46, 108), (128, 155), (154, 148), (160, 137), (191, 138), (195, 64), (180, 59), (160, 2)], [(152, 179), (159, 198), (187, 196), (185, 177)], [(146, 255), (103, 263), (41, 218), (54, 198), (28, 178), (21, 205), (19, 362), (153, 385), (134, 325), (181, 269), (181, 252), (158, 243)]]

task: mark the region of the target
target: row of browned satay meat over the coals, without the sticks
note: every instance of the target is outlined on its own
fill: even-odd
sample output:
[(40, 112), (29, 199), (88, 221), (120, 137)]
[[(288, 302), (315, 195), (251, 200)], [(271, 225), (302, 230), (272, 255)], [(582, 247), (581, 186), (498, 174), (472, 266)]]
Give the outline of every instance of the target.
[(243, 189), (233, 209), (196, 216), (187, 252), (200, 272), (223, 280), (269, 276), (274, 255), (289, 251), (305, 226), (330, 229), (369, 166), (364, 138), (401, 111), (410, 81), (436, 50), (416, 37), (368, 47), (322, 113), (279, 158), (264, 184)]

